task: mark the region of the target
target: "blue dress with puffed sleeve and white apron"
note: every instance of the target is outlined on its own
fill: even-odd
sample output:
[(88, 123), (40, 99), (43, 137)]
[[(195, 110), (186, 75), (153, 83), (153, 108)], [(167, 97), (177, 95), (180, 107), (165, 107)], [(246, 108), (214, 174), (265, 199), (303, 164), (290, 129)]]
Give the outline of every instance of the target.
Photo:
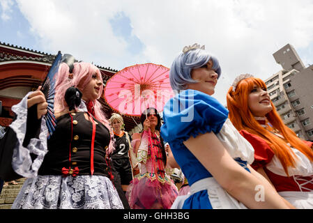
[(214, 132), (229, 155), (247, 169), (247, 163), (254, 160), (254, 150), (227, 117), (228, 110), (220, 102), (200, 91), (183, 91), (165, 105), (160, 133), (169, 142), (175, 160), (190, 184), (190, 195), (178, 196), (171, 208), (246, 208), (222, 189), (183, 144), (191, 136)]

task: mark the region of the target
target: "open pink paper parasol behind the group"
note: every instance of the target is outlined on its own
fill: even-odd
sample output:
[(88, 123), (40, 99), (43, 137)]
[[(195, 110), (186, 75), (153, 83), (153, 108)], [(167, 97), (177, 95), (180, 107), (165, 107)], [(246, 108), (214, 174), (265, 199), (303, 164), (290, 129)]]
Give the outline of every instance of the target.
[(107, 104), (125, 116), (141, 116), (148, 107), (162, 112), (174, 96), (169, 68), (153, 63), (124, 68), (107, 81), (104, 95)]

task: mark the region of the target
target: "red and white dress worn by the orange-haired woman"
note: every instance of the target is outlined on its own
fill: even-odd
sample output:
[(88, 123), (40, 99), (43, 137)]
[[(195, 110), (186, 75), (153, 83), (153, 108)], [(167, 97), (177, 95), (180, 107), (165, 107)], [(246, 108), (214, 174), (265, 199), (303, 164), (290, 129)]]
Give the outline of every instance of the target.
[[(246, 130), (240, 133), (254, 147), (254, 169), (263, 168), (277, 192), (296, 208), (313, 208), (313, 162), (306, 155), (291, 147), (296, 155), (296, 167), (288, 167), (289, 176), (282, 163), (264, 139)], [(282, 135), (277, 134), (282, 137)], [(305, 141), (312, 147), (313, 143)], [(290, 146), (290, 144), (288, 144)]]

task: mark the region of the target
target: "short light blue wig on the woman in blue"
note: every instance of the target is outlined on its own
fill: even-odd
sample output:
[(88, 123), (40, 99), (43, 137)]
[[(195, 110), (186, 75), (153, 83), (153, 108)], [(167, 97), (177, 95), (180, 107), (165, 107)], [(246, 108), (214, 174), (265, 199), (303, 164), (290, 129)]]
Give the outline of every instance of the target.
[(192, 49), (186, 53), (181, 53), (176, 56), (176, 59), (171, 64), (169, 70), (169, 82), (174, 91), (181, 91), (186, 89), (186, 84), (197, 83), (198, 81), (191, 78), (191, 70), (193, 68), (201, 68), (206, 65), (209, 60), (213, 61), (213, 70), (217, 73), (218, 77), (222, 72), (220, 64), (217, 59), (208, 54), (204, 49)]

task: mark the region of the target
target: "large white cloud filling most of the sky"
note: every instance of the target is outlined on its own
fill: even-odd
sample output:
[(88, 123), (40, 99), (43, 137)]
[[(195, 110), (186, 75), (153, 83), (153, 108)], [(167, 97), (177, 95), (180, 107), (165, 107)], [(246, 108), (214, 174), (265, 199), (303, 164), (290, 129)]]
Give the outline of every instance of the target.
[[(39, 50), (61, 50), (100, 66), (122, 69), (151, 62), (170, 67), (185, 45), (206, 45), (222, 66), (215, 98), (223, 103), (236, 75), (249, 72), (266, 79), (280, 70), (272, 56), (277, 49), (287, 43), (297, 50), (313, 45), (312, 0), (17, 3), (40, 40)], [(130, 17), (132, 34), (144, 44), (142, 54), (130, 54), (125, 40), (114, 36), (109, 20), (121, 12)], [(310, 56), (312, 50), (306, 58)]]

